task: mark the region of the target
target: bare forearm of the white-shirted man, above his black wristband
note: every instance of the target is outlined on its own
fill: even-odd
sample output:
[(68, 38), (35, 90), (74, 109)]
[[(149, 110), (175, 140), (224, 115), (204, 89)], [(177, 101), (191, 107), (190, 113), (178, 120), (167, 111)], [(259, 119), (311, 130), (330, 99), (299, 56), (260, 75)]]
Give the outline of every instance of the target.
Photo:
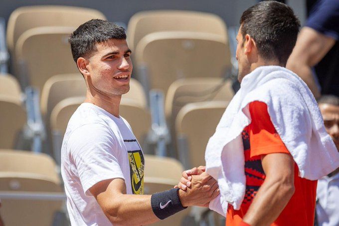
[(118, 226), (140, 226), (159, 221), (151, 207), (150, 195), (121, 195), (106, 211), (107, 218)]

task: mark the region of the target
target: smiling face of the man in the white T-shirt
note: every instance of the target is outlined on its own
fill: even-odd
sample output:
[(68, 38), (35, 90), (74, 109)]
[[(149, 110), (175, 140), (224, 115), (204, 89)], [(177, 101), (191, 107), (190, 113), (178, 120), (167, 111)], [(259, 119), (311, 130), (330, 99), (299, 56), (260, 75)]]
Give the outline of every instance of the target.
[(89, 88), (108, 97), (127, 93), (133, 65), (126, 39), (109, 39), (96, 49), (88, 58)]

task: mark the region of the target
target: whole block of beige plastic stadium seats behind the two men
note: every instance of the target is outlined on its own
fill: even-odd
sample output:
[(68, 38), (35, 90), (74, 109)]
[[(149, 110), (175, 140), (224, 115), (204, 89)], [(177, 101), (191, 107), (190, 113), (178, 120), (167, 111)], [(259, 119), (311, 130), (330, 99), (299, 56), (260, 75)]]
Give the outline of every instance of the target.
[[(17, 211), (8, 204), (13, 197), (21, 197), (14, 204), (22, 206), (21, 212), (27, 215), (30, 213), (37, 218), (41, 208), (50, 211), (50, 214), (40, 211), (46, 216), (46, 222), (41, 225), (50, 225), (53, 213), (62, 211), (64, 194), (57, 171), (52, 173), (54, 187), (41, 186), (39, 190), (26, 183), (38, 186), (37, 180), (41, 177), (45, 180), (45, 169), (38, 169), (40, 163), (35, 162), (50, 163), (50, 169), (60, 164), (61, 143), (68, 120), (86, 94), (84, 80), (71, 55), (68, 36), (92, 18), (105, 19), (105, 16), (88, 8), (25, 6), (14, 10), (9, 17), (7, 48), (11, 72), (17, 79), (0, 74), (0, 148), (23, 149), (28, 140), (33, 151), (45, 152), (54, 158), (53, 161), (41, 153), (7, 151), (7, 156), (13, 155), (8, 158), (17, 159), (10, 164), (13, 168), (5, 169), (6, 165), (0, 168), (3, 176), (0, 184), (4, 186), (0, 189), (0, 197), (3, 207), (8, 207), (0, 211), (1, 216), (7, 216), (5, 222), (13, 222), (9, 225), (39, 225), (34, 224), (34, 217), (23, 218), (26, 222), (15, 218), (13, 213)], [(213, 14), (176, 10), (139, 12), (130, 19), (127, 38), (135, 69), (131, 89), (121, 101), (120, 115), (131, 124), (145, 153), (171, 156), (181, 162), (146, 155), (145, 194), (152, 194), (172, 188), (183, 167), (204, 165), (208, 138), (234, 95), (229, 79), (234, 65), (231, 64), (226, 24)], [(0, 156), (7, 152), (1, 151)], [(28, 155), (39, 160), (30, 160)], [(0, 157), (9, 162), (6, 158)], [(14, 168), (20, 167), (24, 158), (36, 165), (32, 175), (40, 173), (42, 176), (16, 171)], [(28, 165), (23, 172), (32, 170)], [(10, 192), (19, 193), (12, 196)], [(43, 196), (30, 193), (36, 207), (34, 213), (27, 212), (25, 192), (47, 192), (49, 195), (45, 197), (49, 198), (36, 201)], [(53, 196), (53, 192), (58, 194)], [(3, 197), (8, 197), (9, 201)], [(53, 203), (51, 208), (47, 207), (48, 202)], [(186, 210), (158, 225), (179, 225), (188, 213)]]

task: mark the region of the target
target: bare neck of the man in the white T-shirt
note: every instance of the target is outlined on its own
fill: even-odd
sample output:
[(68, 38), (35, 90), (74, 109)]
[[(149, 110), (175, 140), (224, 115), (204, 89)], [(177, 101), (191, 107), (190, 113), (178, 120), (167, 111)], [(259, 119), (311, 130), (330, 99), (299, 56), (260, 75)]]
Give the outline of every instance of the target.
[(108, 96), (96, 90), (87, 89), (85, 103), (94, 104), (119, 118), (121, 95)]

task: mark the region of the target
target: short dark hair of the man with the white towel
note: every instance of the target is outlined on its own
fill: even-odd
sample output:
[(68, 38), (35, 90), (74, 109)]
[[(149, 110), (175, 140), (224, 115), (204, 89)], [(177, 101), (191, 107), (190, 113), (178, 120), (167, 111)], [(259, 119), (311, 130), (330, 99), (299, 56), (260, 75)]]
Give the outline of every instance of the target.
[(261, 1), (246, 9), (240, 18), (241, 34), (256, 42), (259, 55), (286, 65), (297, 41), (300, 21), (293, 9), (281, 2)]

